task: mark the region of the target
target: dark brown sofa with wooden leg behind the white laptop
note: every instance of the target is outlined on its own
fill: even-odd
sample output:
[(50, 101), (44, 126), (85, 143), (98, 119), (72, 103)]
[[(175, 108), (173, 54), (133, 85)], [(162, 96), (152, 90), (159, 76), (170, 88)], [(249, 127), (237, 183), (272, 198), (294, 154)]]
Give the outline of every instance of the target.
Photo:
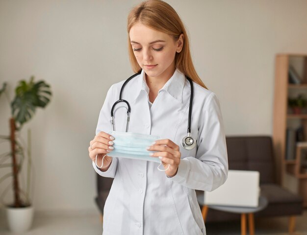
[[(293, 232), (295, 216), (303, 213), (303, 199), (277, 184), (273, 143), (270, 136), (227, 137), (229, 169), (260, 172), (260, 194), (268, 199), (268, 206), (255, 217), (290, 216), (289, 231)], [(197, 194), (204, 191), (196, 191)], [(207, 211), (205, 222), (240, 220), (235, 213)]]

